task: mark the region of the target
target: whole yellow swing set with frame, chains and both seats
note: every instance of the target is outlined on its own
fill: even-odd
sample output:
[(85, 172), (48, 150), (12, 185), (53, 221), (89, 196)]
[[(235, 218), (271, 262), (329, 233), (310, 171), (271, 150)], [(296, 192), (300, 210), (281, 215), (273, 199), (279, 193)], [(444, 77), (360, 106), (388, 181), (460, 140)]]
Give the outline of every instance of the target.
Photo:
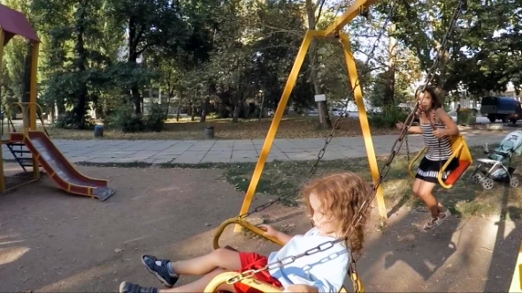
[[(242, 204), (242, 209), (240, 211), (240, 214), (234, 218), (228, 219), (225, 222), (222, 222), (217, 229), (217, 232), (213, 239), (213, 247), (214, 249), (218, 249), (219, 246), (219, 237), (223, 233), (223, 231), (226, 229), (228, 225), (235, 224), (235, 231), (239, 231), (241, 227), (244, 229), (248, 229), (249, 231), (257, 234), (260, 237), (265, 237), (262, 229), (257, 228), (257, 226), (253, 225), (252, 223), (245, 220), (249, 214), (254, 214), (257, 212), (260, 212), (264, 210), (267, 207), (272, 206), (274, 203), (279, 202), (282, 199), (287, 199), (290, 196), (295, 196), (296, 192), (290, 193), (285, 196), (280, 196), (278, 199), (275, 199), (273, 201), (270, 201), (268, 203), (265, 203), (262, 206), (256, 207), (253, 211), (248, 212), (249, 205), (251, 203), (251, 200), (253, 198), (254, 192), (257, 187), (257, 183), (259, 182), (259, 178), (261, 177), (261, 173), (263, 172), (263, 168), (265, 166), (265, 161), (268, 156), (268, 153), (270, 151), (270, 147), (273, 144), (273, 139), (275, 138), (275, 133), (277, 131), (277, 128), (279, 127), (280, 120), (283, 114), (283, 110), (285, 109), (288, 97), (292, 91), (292, 88), (296, 84), (297, 74), (299, 70), (301, 69), (301, 66), (303, 65), (304, 57), (306, 56), (307, 50), (310, 47), (312, 38), (334, 38), (341, 42), (342, 48), (344, 49), (344, 56), (345, 56), (345, 62), (346, 66), (348, 68), (348, 75), (349, 75), (349, 82), (351, 85), (351, 93), (354, 95), (354, 100), (357, 103), (357, 111), (359, 116), (359, 122), (361, 124), (361, 129), (363, 132), (363, 138), (365, 140), (365, 148), (368, 156), (368, 162), (370, 165), (370, 171), (372, 173), (372, 181), (373, 181), (373, 188), (372, 188), (372, 194), (367, 199), (362, 207), (361, 210), (364, 211), (368, 208), (370, 203), (374, 198), (377, 199), (377, 205), (379, 207), (380, 216), (383, 218), (387, 218), (387, 211), (384, 203), (384, 198), (382, 196), (382, 189), (380, 187), (380, 184), (384, 180), (385, 177), (388, 175), (388, 170), (390, 169), (391, 163), (393, 162), (395, 158), (395, 154), (398, 154), (401, 146), (403, 145), (403, 141), (406, 141), (406, 147), (408, 148), (408, 140), (407, 140), (407, 134), (408, 134), (408, 128), (411, 127), (411, 124), (413, 123), (414, 113), (417, 112), (419, 102), (415, 104), (415, 107), (411, 114), (406, 118), (406, 122), (404, 123), (406, 127), (403, 128), (401, 131), (401, 134), (399, 135), (399, 138), (395, 140), (395, 144), (392, 147), (391, 154), (388, 157), (388, 161), (385, 163), (385, 165), (382, 167), (382, 169), (378, 169), (377, 165), (377, 158), (375, 156), (375, 151), (373, 149), (372, 144), (372, 136), (370, 133), (370, 127), (368, 124), (368, 118), (366, 116), (366, 110), (365, 110), (365, 103), (363, 101), (363, 94), (362, 89), (359, 84), (358, 74), (357, 74), (357, 67), (355, 63), (355, 58), (353, 54), (351, 53), (350, 46), (349, 46), (349, 36), (348, 34), (344, 34), (341, 32), (342, 28), (346, 26), (349, 21), (352, 19), (355, 19), (357, 16), (366, 16), (368, 13), (369, 6), (372, 5), (375, 2), (375, 0), (357, 0), (354, 4), (352, 4), (347, 11), (345, 11), (342, 16), (340, 16), (338, 19), (335, 19), (334, 22), (327, 26), (325, 30), (317, 31), (317, 30), (307, 30), (304, 34), (303, 42), (301, 44), (301, 48), (299, 49), (296, 60), (294, 62), (294, 65), (292, 67), (292, 70), (290, 71), (290, 74), (288, 76), (287, 84), (283, 90), (283, 93), (281, 95), (279, 106), (277, 107), (277, 110), (275, 111), (275, 114), (273, 116), (273, 122), (272, 125), (266, 135), (265, 143), (263, 145), (263, 148), (261, 150), (261, 154), (259, 155), (259, 159), (257, 161), (256, 168), (254, 169), (254, 173), (252, 175), (252, 178), (250, 180), (249, 189), (245, 194), (245, 199)], [(426, 89), (426, 86), (433, 80), (434, 78), (434, 72), (437, 69), (437, 66), (439, 64), (439, 61), (441, 57), (444, 55), (444, 49), (446, 48), (447, 42), (449, 41), (449, 36), (452, 33), (454, 26), (457, 22), (457, 19), (460, 15), (460, 13), (465, 9), (465, 0), (459, 0), (457, 7), (453, 11), (453, 15), (448, 27), (448, 30), (446, 34), (444, 35), (444, 38), (441, 42), (441, 47), (439, 49), (439, 52), (437, 52), (437, 57), (434, 60), (434, 64), (432, 68), (430, 69), (428, 76), (426, 78), (426, 83), (424, 84), (424, 87), (421, 91), (424, 91)], [(373, 51), (377, 47), (378, 41), (380, 39), (380, 36), (383, 34), (384, 28), (387, 26), (388, 21), (391, 19), (391, 15), (395, 11), (395, 4), (391, 4), (388, 19), (385, 21), (384, 26), (381, 29), (381, 32), (378, 36), (377, 41), (375, 41), (372, 53), (369, 56), (372, 56)], [(371, 57), (368, 57), (367, 63), (372, 59)], [(346, 101), (345, 105), (343, 106), (343, 110), (348, 108), (348, 101)], [(323, 157), (323, 155), (326, 152), (326, 146), (329, 144), (329, 142), (334, 137), (334, 130), (336, 129), (339, 120), (341, 117), (337, 117), (337, 119), (334, 122), (333, 130), (330, 132), (329, 136), (326, 138), (325, 146), (319, 151), (317, 161), (312, 165), (310, 174), (308, 178), (310, 179), (316, 172), (317, 167), (319, 165), (319, 161)], [(460, 178), (465, 170), (471, 165), (472, 163), (472, 156), (469, 151), (468, 146), (465, 143), (464, 138), (461, 135), (455, 136), (450, 139), (451, 147), (453, 150), (453, 154), (450, 157), (450, 160), (453, 158), (457, 158), (459, 161), (459, 167), (455, 170), (453, 170), (449, 177), (446, 180), (442, 180), (442, 174), (444, 170), (447, 168), (448, 163), (446, 163), (444, 166), (442, 166), (440, 172), (439, 172), (439, 182), (444, 188), (450, 188), (455, 182), (457, 182), (458, 178)], [(423, 151), (426, 149), (426, 147), (423, 149)], [(419, 152), (419, 154), (416, 156), (415, 161), (418, 160), (420, 155), (423, 153), (423, 151)], [(450, 160), (448, 162), (450, 162)], [(411, 169), (413, 162), (411, 162), (409, 168)], [(352, 233), (355, 231), (355, 227), (357, 227), (358, 222), (361, 219), (362, 211), (359, 210), (357, 214), (354, 216), (354, 222), (349, 227), (349, 233), (348, 235), (351, 236)], [(274, 244), (280, 244), (280, 241), (273, 237), (265, 237), (266, 239), (270, 240)], [(302, 252), (300, 254), (289, 256), (285, 259), (280, 259), (279, 261), (267, 264), (265, 267), (259, 268), (257, 270), (248, 270), (242, 273), (237, 272), (226, 272), (223, 274), (219, 274), (216, 277), (214, 277), (211, 282), (207, 285), (207, 287), (204, 289), (204, 292), (215, 292), (220, 284), (227, 283), (227, 284), (234, 284), (235, 282), (242, 282), (243, 284), (246, 284), (250, 288), (258, 289), (262, 292), (281, 292), (280, 288), (273, 287), (272, 285), (269, 285), (265, 282), (257, 281), (253, 278), (255, 274), (261, 271), (270, 270), (276, 267), (283, 267), (287, 266), (291, 263), (293, 263), (296, 259), (303, 258), (305, 256), (315, 254), (318, 252), (324, 252), (327, 249), (334, 246), (334, 244), (341, 243), (344, 241), (347, 241), (349, 237), (340, 237), (333, 241), (326, 242), (324, 244), (320, 244), (317, 247), (314, 247), (306, 252)], [(228, 249), (233, 248), (226, 246)], [(349, 277), (352, 281), (354, 292), (365, 292), (365, 287), (361, 279), (359, 278), (357, 274), (357, 266), (356, 266), (356, 260), (351, 255), (351, 252), (349, 252)], [(344, 287), (341, 289), (341, 292), (347, 292), (347, 289)]]

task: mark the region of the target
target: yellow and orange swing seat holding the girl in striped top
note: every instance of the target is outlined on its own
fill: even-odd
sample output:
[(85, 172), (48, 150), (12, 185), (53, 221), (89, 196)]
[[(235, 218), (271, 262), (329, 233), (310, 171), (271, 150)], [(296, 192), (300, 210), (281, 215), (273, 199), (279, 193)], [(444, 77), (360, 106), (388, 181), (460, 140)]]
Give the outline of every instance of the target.
[[(449, 138), (449, 143), (451, 144), (452, 154), (449, 156), (448, 161), (442, 166), (439, 170), (439, 175), (437, 179), (439, 180), (439, 184), (442, 187), (449, 189), (455, 184), (460, 177), (464, 174), (464, 172), (472, 165), (472, 153), (468, 145), (465, 142), (465, 139), (462, 135), (456, 135)], [(413, 158), (408, 166), (408, 170), (410, 171), (411, 177), (415, 177), (413, 173), (413, 164), (418, 161), (421, 155), (426, 152), (426, 146), (424, 146), (418, 154)], [(449, 173), (449, 176), (446, 180), (442, 180), (442, 175), (444, 174), (444, 170), (448, 168), (449, 162), (451, 162), (454, 158), (458, 159), (458, 167)]]

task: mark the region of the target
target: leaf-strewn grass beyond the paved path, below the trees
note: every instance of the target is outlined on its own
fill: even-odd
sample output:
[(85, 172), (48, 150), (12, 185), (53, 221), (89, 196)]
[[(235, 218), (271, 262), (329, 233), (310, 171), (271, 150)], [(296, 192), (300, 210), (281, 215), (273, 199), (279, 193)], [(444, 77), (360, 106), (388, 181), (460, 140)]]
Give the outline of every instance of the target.
[[(335, 117), (336, 118), (336, 117)], [(333, 121), (334, 122), (334, 119)], [(272, 124), (272, 118), (243, 120), (232, 123), (231, 119), (208, 119), (205, 123), (180, 121), (166, 122), (165, 131), (122, 133), (120, 131), (104, 130), (103, 139), (203, 139), (206, 126), (214, 126), (215, 139), (265, 139), (266, 133)], [(330, 130), (318, 129), (318, 116), (285, 116), (281, 121), (278, 139), (306, 139), (325, 138)], [(39, 126), (39, 128), (42, 128)], [(53, 139), (93, 139), (92, 130), (66, 130), (47, 126), (50, 137)], [(350, 137), (361, 135), (360, 124), (357, 118), (342, 117), (337, 136)], [(372, 127), (373, 135), (396, 134), (395, 129), (379, 129)]]

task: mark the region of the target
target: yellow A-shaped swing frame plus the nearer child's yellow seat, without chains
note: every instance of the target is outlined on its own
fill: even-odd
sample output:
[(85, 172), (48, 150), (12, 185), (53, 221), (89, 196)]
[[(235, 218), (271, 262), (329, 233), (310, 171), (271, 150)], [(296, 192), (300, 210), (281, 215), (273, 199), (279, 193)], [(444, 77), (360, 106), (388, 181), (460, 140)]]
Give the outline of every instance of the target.
[[(275, 111), (273, 116), (272, 125), (266, 134), (265, 144), (259, 154), (259, 159), (257, 161), (256, 168), (254, 169), (254, 174), (250, 180), (249, 188), (245, 194), (245, 198), (243, 200), (242, 208), (240, 211), (240, 216), (231, 218), (222, 222), (219, 226), (216, 235), (213, 239), (214, 249), (219, 248), (219, 237), (226, 229), (226, 226), (235, 224), (235, 232), (239, 232), (241, 227), (248, 229), (249, 231), (257, 234), (260, 237), (264, 237), (274, 244), (279, 244), (279, 240), (273, 237), (265, 237), (262, 229), (257, 228), (255, 225), (243, 220), (241, 214), (245, 214), (249, 210), (250, 203), (254, 197), (254, 193), (256, 191), (257, 184), (265, 167), (266, 158), (268, 157), (268, 153), (270, 152), (270, 148), (273, 144), (273, 139), (275, 139), (275, 133), (279, 127), (280, 120), (283, 115), (283, 111), (287, 105), (288, 98), (292, 92), (292, 88), (296, 85), (297, 75), (303, 65), (304, 58), (306, 53), (310, 47), (311, 41), (313, 38), (336, 38), (341, 42), (342, 48), (344, 49), (344, 57), (346, 66), (348, 68), (349, 82), (353, 89), (354, 99), (357, 103), (357, 112), (359, 116), (359, 123), (361, 124), (361, 130), (363, 132), (363, 138), (365, 140), (365, 148), (366, 154), (368, 157), (368, 162), (370, 165), (370, 172), (372, 173), (372, 180), (375, 183), (379, 178), (379, 167), (377, 165), (377, 157), (375, 155), (375, 149), (373, 148), (372, 142), (372, 134), (370, 131), (370, 126), (368, 124), (368, 117), (366, 115), (365, 102), (363, 100), (363, 91), (362, 87), (359, 84), (358, 74), (357, 74), (357, 66), (355, 62), (355, 58), (351, 52), (349, 45), (349, 36), (348, 34), (341, 33), (342, 27), (346, 26), (352, 19), (355, 19), (357, 16), (363, 14), (371, 4), (373, 4), (375, 0), (357, 0), (354, 4), (352, 4), (347, 11), (345, 11), (340, 17), (334, 20), (330, 26), (327, 26), (325, 30), (310, 30), (308, 29), (304, 34), (303, 42), (301, 44), (301, 48), (297, 52), (296, 60), (290, 71), (290, 74), (287, 79), (287, 84), (283, 90), (281, 95), (280, 103)], [(376, 199), (377, 206), (379, 207), (380, 216), (382, 218), (388, 218), (386, 205), (384, 202), (384, 197), (382, 194), (382, 187), (379, 187), (376, 191)], [(228, 249), (232, 249), (231, 247), (226, 246)], [(354, 259), (350, 260), (349, 264), (349, 276), (352, 282), (354, 282), (354, 289), (356, 289), (357, 293), (365, 292), (365, 287), (361, 279), (358, 277), (356, 264)], [(215, 292), (220, 284), (229, 282), (231, 278), (235, 276), (241, 276), (240, 273), (237, 272), (226, 272), (223, 274), (219, 274), (212, 279), (212, 281), (207, 285), (204, 289), (204, 292)], [(259, 282), (253, 278), (245, 278), (241, 281), (251, 288), (259, 289), (262, 292), (281, 292), (281, 289), (275, 288), (265, 282)], [(347, 289), (342, 287), (340, 292), (348, 292)]]

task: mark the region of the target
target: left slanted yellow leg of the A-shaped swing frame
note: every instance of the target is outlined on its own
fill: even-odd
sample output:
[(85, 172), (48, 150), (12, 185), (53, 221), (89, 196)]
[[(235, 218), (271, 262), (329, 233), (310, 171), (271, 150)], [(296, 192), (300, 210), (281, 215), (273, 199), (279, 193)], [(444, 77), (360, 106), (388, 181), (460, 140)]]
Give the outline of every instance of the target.
[[(259, 183), (259, 178), (261, 177), (261, 173), (265, 168), (266, 157), (270, 152), (270, 147), (273, 144), (273, 139), (275, 139), (275, 133), (279, 127), (281, 118), (283, 116), (283, 112), (285, 107), (287, 106), (288, 98), (292, 93), (292, 89), (296, 86), (297, 75), (301, 70), (301, 66), (303, 66), (304, 57), (306, 57), (306, 52), (310, 47), (310, 42), (313, 37), (320, 36), (321, 32), (307, 30), (306, 34), (304, 34), (303, 42), (301, 43), (301, 48), (297, 52), (296, 61), (294, 61), (294, 66), (292, 66), (292, 71), (290, 71), (290, 75), (287, 79), (287, 84), (285, 89), (283, 90), (283, 94), (281, 95), (280, 102), (277, 106), (275, 114), (273, 115), (272, 124), (270, 125), (270, 129), (268, 133), (266, 133), (265, 143), (263, 144), (263, 148), (261, 149), (261, 154), (259, 154), (259, 159), (257, 159), (256, 169), (254, 169), (254, 174), (250, 179), (249, 189), (245, 194), (245, 199), (243, 200), (240, 214), (244, 214), (249, 211), (250, 203), (252, 202), (252, 198), (254, 197), (254, 193), (256, 192), (257, 184)], [(241, 230), (240, 225), (235, 225), (234, 231), (239, 232)]]

